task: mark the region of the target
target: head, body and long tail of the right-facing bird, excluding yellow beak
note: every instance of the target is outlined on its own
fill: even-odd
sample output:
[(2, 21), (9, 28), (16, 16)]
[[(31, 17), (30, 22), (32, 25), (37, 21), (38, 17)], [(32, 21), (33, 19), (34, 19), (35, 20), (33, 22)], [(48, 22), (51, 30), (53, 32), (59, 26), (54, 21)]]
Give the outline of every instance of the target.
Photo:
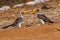
[(19, 17), (13, 22), (13, 24), (7, 25), (7, 26), (3, 27), (2, 29), (6, 29), (10, 26), (15, 27), (16, 25), (19, 25), (19, 27), (21, 27), (22, 19), (23, 19), (23, 12), (20, 12)]

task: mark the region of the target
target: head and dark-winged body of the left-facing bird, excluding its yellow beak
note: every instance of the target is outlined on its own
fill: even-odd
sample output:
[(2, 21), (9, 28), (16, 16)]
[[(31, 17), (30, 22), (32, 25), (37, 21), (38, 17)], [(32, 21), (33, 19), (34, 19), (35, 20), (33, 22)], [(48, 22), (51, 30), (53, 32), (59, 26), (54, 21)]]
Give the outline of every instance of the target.
[(38, 11), (37, 18), (39, 18), (41, 20), (42, 24), (45, 24), (46, 22), (48, 22), (48, 23), (54, 23), (53, 21), (51, 21), (48, 17), (46, 17), (42, 13), (41, 9), (40, 10), (38, 9), (37, 11)]

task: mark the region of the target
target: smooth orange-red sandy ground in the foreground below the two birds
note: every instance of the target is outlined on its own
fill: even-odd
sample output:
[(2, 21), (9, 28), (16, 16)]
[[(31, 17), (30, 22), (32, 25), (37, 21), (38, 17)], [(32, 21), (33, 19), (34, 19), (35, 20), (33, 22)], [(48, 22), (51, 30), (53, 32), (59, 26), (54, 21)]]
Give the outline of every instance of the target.
[(0, 40), (60, 40), (60, 23), (0, 30)]

